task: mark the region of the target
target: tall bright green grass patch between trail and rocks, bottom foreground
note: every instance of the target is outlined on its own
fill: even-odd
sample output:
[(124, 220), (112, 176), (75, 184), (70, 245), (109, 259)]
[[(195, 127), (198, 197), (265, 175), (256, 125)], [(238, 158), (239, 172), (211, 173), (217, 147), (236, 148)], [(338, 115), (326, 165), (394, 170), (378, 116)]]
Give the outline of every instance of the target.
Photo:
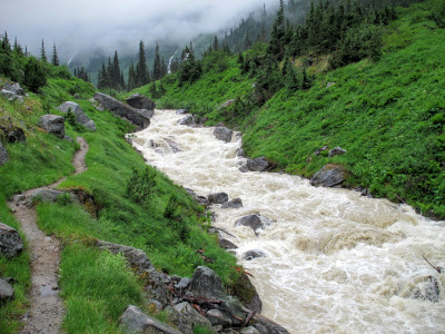
[(142, 288), (122, 255), (72, 244), (62, 252), (60, 274), (68, 333), (120, 333), (125, 307), (142, 304)]

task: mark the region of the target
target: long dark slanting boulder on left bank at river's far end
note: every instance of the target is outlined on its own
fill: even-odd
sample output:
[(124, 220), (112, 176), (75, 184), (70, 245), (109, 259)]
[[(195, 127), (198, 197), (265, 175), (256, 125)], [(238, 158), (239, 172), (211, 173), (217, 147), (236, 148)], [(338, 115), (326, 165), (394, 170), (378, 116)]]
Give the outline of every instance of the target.
[(150, 125), (150, 117), (147, 110), (132, 108), (101, 92), (95, 94), (95, 100), (105, 109), (110, 110), (116, 116), (127, 119), (138, 127), (146, 128)]

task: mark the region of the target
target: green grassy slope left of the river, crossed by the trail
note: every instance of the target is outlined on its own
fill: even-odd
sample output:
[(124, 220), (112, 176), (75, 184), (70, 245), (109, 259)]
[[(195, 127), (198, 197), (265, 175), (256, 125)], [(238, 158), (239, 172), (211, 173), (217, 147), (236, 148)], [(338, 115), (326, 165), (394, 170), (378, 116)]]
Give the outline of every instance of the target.
[[(6, 81), (6, 78), (2, 78)], [(1, 138), (9, 161), (0, 166), (0, 220), (20, 229), (7, 199), (21, 190), (48, 185), (68, 176), (60, 188), (81, 191), (93, 205), (37, 204), (39, 227), (61, 238), (60, 286), (67, 314), (67, 333), (118, 333), (117, 320), (128, 304), (145, 307), (144, 279), (128, 268), (120, 256), (91, 247), (95, 238), (144, 249), (155, 267), (168, 274), (190, 276), (199, 265), (214, 268), (225, 284), (236, 282), (236, 259), (207, 234), (209, 219), (204, 208), (161, 173), (147, 167), (144, 158), (125, 140), (134, 130), (127, 121), (108, 111), (97, 111), (89, 98), (95, 89), (72, 77), (49, 76), (24, 105), (0, 98), (0, 119), (24, 130), (26, 143), (10, 144)], [(76, 99), (77, 94), (80, 98)], [(44, 114), (61, 115), (61, 102), (78, 102), (96, 122), (97, 131), (66, 121), (66, 134), (81, 136), (89, 144), (88, 170), (72, 176), (71, 159), (78, 144), (47, 134), (38, 127)], [(147, 185), (141, 187), (141, 185)], [(140, 191), (147, 195), (140, 196)], [(198, 249), (214, 262), (202, 259)], [(17, 333), (29, 303), (29, 250), (16, 258), (0, 257), (0, 277), (16, 279), (16, 297), (0, 307), (2, 333)]]

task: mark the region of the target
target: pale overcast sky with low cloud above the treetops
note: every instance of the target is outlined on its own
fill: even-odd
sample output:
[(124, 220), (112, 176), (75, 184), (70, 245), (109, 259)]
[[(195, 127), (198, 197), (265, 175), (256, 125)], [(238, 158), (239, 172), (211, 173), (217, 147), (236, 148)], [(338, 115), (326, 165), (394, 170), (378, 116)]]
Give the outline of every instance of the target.
[(59, 53), (100, 48), (106, 52), (126, 47), (137, 51), (169, 39), (187, 41), (200, 32), (214, 33), (237, 24), (240, 18), (278, 0), (0, 0), (0, 31), (13, 42), (39, 55), (44, 39), (47, 55), (55, 42)]

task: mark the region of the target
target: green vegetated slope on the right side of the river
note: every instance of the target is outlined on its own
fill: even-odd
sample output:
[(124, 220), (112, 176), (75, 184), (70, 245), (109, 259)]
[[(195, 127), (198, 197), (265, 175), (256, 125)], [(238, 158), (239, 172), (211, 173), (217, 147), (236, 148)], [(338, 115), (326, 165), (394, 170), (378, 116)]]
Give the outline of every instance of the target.
[[(347, 186), (445, 218), (445, 29), (431, 19), (439, 3), (398, 8), (377, 61), (328, 71), (328, 56), (316, 58), (308, 68), (309, 89), (280, 89), (258, 107), (258, 78), (241, 73), (238, 56), (205, 58), (195, 82), (164, 79), (167, 92), (158, 107), (188, 108), (209, 125), (222, 120), (243, 130), (249, 156), (265, 155), (287, 173), (310, 177), (327, 163), (342, 164), (350, 171)], [(245, 59), (264, 50), (257, 45)], [(139, 91), (150, 94), (150, 88)], [(218, 109), (228, 99), (236, 102)], [(316, 156), (325, 145), (347, 154)]]

